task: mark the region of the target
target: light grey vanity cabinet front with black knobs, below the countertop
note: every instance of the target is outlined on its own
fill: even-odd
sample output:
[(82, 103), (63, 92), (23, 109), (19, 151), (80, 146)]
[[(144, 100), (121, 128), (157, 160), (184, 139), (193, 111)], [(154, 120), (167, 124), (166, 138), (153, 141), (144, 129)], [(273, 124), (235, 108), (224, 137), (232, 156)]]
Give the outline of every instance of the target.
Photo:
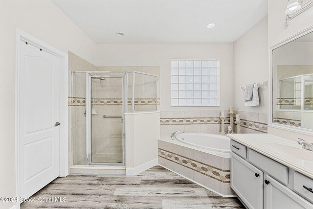
[(247, 208), (313, 209), (312, 179), (237, 141), (230, 144), (230, 186)]

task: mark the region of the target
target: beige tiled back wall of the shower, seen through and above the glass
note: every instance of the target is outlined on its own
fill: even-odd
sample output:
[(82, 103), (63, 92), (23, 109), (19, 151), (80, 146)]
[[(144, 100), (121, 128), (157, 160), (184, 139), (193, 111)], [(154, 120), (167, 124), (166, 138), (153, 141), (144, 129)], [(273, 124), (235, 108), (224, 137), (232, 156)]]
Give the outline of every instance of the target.
[[(120, 71), (135, 70), (159, 75), (159, 67), (96, 67), (97, 71)], [(110, 75), (121, 75), (121, 73), (111, 73)], [(124, 75), (124, 73), (122, 73)], [(129, 81), (132, 81), (129, 73)], [(116, 78), (106, 78), (106, 80), (94, 80), (95, 106), (93, 107), (97, 115), (95, 118), (95, 138), (92, 138), (92, 150), (96, 154), (95, 161), (105, 159), (107, 162), (122, 161), (122, 123), (121, 118), (103, 118), (107, 116), (122, 116), (122, 83)], [(158, 85), (159, 86), (159, 85)], [(151, 88), (155, 88), (149, 76), (135, 75), (135, 111), (156, 110), (154, 93)], [(128, 110), (131, 111), (132, 82), (128, 86)], [(155, 91), (154, 91), (155, 92)], [(154, 100), (154, 102), (152, 102)], [(154, 105), (153, 105), (154, 104)]]

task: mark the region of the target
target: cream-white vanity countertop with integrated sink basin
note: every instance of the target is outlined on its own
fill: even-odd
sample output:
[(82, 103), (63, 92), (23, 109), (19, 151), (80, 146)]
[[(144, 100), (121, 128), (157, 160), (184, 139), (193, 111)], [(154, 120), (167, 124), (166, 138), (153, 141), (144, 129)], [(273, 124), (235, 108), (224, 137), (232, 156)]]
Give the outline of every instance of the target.
[(313, 151), (301, 148), (297, 141), (270, 134), (228, 134), (227, 136), (268, 158), (313, 178)]

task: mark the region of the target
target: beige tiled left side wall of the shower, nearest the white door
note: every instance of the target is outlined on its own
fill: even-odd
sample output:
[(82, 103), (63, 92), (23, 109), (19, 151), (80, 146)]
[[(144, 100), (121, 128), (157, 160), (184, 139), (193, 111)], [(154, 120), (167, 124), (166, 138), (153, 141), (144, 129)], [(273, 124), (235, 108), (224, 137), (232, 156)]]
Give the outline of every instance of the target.
[(71, 97), (70, 71), (94, 71), (95, 66), (69, 51), (68, 69), (68, 159), (70, 166), (73, 163), (86, 164), (86, 117), (84, 116), (86, 110), (86, 77), (84, 74), (74, 76), (75, 88), (73, 89), (73, 97)]

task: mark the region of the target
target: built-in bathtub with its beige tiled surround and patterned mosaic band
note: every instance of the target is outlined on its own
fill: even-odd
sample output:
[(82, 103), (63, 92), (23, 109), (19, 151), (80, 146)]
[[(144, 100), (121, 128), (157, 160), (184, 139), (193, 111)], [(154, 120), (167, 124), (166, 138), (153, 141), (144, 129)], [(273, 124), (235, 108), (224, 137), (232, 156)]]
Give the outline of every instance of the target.
[(230, 139), (224, 135), (161, 136), (158, 164), (223, 197), (236, 196), (230, 187)]

